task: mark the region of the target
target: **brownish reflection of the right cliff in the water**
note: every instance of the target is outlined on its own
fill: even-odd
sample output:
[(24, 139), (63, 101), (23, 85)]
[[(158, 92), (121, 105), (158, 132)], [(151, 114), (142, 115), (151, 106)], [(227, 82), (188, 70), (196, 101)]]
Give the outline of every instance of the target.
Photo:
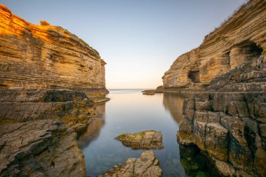
[(191, 98), (191, 93), (165, 93), (163, 104), (170, 111), (172, 118), (179, 123), (182, 120), (183, 101), (186, 98)]

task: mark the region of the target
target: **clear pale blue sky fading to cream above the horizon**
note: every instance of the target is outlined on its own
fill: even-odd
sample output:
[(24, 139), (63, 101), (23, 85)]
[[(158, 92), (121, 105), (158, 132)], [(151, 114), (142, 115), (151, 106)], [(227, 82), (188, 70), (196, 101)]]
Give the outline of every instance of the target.
[(0, 0), (33, 24), (76, 34), (106, 64), (106, 87), (156, 88), (174, 60), (197, 48), (245, 0)]

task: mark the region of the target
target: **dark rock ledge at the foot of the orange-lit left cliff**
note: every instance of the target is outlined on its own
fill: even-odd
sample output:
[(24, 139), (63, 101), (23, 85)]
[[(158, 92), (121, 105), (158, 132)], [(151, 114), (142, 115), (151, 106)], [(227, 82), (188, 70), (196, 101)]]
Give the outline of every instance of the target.
[(0, 125), (39, 119), (59, 119), (68, 127), (85, 129), (100, 117), (84, 92), (73, 90), (0, 90)]

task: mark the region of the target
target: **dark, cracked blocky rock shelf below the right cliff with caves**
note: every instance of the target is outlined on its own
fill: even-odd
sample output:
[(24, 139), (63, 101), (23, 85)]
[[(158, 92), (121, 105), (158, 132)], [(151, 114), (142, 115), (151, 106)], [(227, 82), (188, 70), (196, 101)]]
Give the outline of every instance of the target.
[(179, 143), (194, 143), (226, 176), (265, 176), (266, 57), (244, 62), (183, 104)]

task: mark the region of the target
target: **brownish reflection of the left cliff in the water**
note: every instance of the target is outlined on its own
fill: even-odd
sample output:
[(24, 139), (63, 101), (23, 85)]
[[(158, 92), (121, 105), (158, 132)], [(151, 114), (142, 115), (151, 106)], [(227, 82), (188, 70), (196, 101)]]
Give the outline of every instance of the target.
[(78, 146), (83, 149), (87, 147), (92, 141), (99, 137), (102, 127), (105, 124), (105, 103), (97, 104), (96, 106), (97, 114), (99, 118), (94, 118), (87, 129), (80, 134), (78, 137)]

